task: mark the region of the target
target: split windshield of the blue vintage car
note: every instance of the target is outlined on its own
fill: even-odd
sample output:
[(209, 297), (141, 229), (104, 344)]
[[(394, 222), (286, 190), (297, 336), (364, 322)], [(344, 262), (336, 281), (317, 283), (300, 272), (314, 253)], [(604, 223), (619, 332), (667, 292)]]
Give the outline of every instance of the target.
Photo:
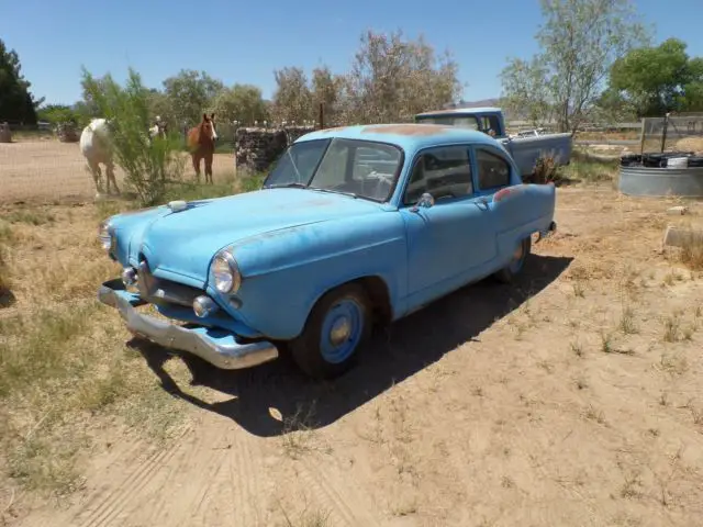
[(384, 202), (400, 172), (402, 150), (372, 141), (313, 139), (293, 143), (264, 188), (300, 187)]

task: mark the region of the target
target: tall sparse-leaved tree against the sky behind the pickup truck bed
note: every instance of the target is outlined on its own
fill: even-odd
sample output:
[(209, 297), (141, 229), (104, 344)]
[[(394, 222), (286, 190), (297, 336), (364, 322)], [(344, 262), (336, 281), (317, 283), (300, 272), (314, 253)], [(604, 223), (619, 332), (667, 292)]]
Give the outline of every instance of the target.
[(501, 74), (503, 105), (543, 122), (554, 115), (561, 132), (576, 134), (613, 63), (649, 34), (632, 0), (542, 0), (542, 14), (540, 52), (511, 59)]

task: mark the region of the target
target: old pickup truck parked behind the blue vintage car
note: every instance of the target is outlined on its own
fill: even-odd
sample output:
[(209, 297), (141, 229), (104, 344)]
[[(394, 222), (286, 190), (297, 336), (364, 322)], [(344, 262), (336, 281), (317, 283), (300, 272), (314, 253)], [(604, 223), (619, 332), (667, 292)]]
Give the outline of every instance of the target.
[(571, 161), (571, 134), (510, 136), (505, 132), (505, 120), (500, 108), (435, 110), (419, 113), (415, 122), (460, 126), (492, 135), (513, 157), (523, 179), (533, 175), (535, 162), (543, 154), (554, 155), (557, 166), (569, 165)]

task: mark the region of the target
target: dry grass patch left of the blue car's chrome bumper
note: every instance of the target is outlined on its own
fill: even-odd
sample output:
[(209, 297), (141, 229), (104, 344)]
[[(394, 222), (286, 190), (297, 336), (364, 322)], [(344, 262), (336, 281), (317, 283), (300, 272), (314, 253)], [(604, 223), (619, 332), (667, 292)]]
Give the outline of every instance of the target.
[[(143, 359), (124, 345), (129, 334), (94, 298), (118, 272), (97, 243), (94, 208), (14, 208), (2, 216), (1, 240), (12, 240), (2, 277), (16, 303), (0, 311), (0, 467), (25, 489), (65, 494), (81, 484), (81, 455), (105, 415), (124, 421), (130, 406), (149, 407), (134, 425), (165, 437), (178, 412), (158, 407), (169, 397), (154, 390)], [(158, 413), (170, 418), (152, 429)]]

